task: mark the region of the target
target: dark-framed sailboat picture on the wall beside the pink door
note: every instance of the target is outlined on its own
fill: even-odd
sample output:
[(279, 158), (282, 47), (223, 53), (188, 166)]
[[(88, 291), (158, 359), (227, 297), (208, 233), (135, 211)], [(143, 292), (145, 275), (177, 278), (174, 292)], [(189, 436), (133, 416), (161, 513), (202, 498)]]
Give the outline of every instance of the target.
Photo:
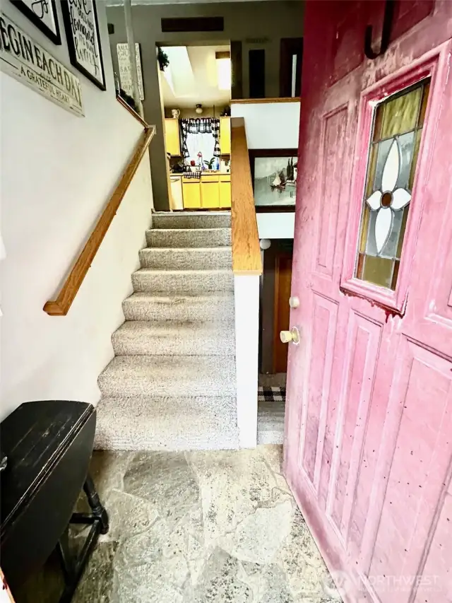
[(295, 211), (297, 149), (249, 151), (256, 211)]

